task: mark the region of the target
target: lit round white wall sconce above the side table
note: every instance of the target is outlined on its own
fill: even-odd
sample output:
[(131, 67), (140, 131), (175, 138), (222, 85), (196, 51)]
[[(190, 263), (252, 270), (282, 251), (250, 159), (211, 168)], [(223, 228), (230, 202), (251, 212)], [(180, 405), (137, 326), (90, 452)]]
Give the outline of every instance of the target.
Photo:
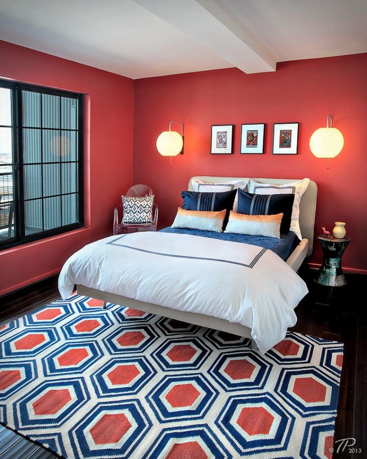
[[(329, 126), (330, 121), (330, 126)], [(344, 137), (337, 128), (333, 128), (333, 118), (327, 115), (326, 127), (317, 129), (310, 138), (310, 149), (317, 158), (335, 158), (343, 150)]]

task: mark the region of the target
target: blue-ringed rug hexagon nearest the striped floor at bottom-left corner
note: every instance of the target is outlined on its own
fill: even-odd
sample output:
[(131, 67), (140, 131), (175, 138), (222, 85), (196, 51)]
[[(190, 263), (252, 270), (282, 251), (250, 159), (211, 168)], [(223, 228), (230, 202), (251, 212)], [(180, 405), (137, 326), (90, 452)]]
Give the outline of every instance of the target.
[(89, 398), (84, 378), (45, 381), (14, 404), (14, 426), (20, 431), (60, 426)]

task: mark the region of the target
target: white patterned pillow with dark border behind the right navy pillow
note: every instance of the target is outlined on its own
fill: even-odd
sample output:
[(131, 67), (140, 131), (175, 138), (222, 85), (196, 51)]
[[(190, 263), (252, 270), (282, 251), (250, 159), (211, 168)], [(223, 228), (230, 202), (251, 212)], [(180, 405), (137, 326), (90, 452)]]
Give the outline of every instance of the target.
[(261, 184), (259, 182), (256, 182), (256, 180), (250, 179), (248, 189), (249, 193), (252, 194), (294, 194), (295, 200), (293, 202), (290, 231), (295, 232), (298, 238), (302, 240), (301, 229), (299, 227), (299, 203), (309, 183), (310, 179), (303, 179), (298, 182), (291, 182), (289, 184), (274, 185)]

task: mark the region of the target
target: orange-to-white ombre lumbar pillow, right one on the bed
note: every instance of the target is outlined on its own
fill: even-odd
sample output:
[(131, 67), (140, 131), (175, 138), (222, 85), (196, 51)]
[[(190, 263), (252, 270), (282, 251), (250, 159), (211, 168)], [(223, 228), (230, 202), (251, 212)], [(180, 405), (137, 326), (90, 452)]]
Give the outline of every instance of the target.
[(251, 234), (280, 238), (280, 224), (283, 214), (246, 215), (230, 211), (226, 233)]

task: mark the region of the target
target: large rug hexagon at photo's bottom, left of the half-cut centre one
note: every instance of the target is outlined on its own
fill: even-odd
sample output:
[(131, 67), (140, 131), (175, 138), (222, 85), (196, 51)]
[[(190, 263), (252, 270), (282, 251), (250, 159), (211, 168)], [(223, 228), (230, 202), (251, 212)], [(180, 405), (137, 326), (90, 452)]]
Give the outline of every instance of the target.
[(70, 432), (75, 457), (129, 458), (152, 423), (138, 400), (97, 403)]

